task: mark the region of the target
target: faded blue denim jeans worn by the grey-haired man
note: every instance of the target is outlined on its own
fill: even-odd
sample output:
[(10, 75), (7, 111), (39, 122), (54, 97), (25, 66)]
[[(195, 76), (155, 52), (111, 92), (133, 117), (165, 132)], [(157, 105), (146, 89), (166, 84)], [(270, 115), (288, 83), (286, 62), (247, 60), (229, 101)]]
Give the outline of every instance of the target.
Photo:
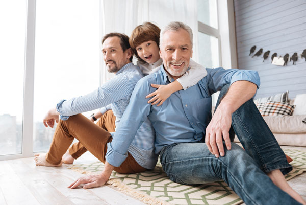
[[(217, 105), (227, 93), (222, 88)], [(276, 187), (266, 175), (275, 169), (292, 170), (269, 127), (252, 100), (232, 115), (231, 139), (236, 132), (246, 151), (232, 143), (231, 150), (216, 158), (205, 143), (176, 143), (163, 147), (160, 161), (172, 181), (206, 184), (223, 179), (246, 204), (300, 204)]]

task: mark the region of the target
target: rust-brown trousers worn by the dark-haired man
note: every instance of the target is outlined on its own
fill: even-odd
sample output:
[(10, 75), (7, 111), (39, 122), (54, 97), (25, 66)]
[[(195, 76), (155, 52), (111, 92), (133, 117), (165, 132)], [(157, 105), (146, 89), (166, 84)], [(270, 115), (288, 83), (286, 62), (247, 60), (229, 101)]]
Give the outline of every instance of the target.
[[(114, 123), (109, 124), (114, 118), (113, 112), (109, 110), (101, 117), (97, 124), (94, 124), (82, 114), (70, 116), (65, 121), (60, 120), (56, 127), (50, 149), (46, 155), (46, 161), (54, 165), (59, 164), (62, 156), (75, 138), (80, 143), (75, 145), (75, 149), (72, 148), (72, 151), (75, 151), (72, 154), (75, 153), (75, 155), (78, 155), (88, 150), (101, 162), (105, 163), (107, 143), (112, 141), (112, 136), (106, 129), (110, 131), (115, 129)], [(107, 123), (105, 124), (104, 122)], [(146, 169), (141, 167), (131, 154), (128, 154), (125, 161), (119, 167), (115, 167), (114, 170), (127, 174), (143, 172)]]

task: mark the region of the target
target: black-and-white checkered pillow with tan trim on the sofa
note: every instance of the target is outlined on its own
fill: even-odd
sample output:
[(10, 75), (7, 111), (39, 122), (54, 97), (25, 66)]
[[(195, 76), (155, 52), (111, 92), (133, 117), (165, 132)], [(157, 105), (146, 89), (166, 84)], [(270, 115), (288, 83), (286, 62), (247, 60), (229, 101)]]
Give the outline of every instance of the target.
[(262, 116), (290, 116), (295, 108), (295, 105), (281, 103), (275, 101), (267, 101), (263, 108), (259, 111)]

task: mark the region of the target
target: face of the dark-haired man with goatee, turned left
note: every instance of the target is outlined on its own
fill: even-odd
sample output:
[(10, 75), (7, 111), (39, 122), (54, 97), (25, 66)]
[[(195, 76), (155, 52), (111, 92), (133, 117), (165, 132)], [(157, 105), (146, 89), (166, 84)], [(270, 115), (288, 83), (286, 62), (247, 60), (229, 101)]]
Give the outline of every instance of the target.
[(117, 36), (105, 39), (102, 44), (102, 53), (107, 70), (110, 73), (116, 73), (121, 67), (130, 63), (129, 59), (132, 55), (131, 49), (127, 49), (123, 52), (120, 45), (120, 39)]

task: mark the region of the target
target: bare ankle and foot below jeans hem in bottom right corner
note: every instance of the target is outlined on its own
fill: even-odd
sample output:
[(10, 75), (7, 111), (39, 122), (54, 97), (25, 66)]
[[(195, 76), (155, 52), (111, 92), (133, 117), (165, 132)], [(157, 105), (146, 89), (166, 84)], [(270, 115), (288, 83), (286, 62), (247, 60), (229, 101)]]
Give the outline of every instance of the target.
[(273, 181), (273, 183), (279, 187), (280, 189), (282, 189), (284, 192), (286, 192), (287, 194), (289, 194), (292, 198), (294, 198), (296, 201), (300, 202), (303, 205), (306, 205), (306, 202), (303, 200), (303, 198), (296, 192), (294, 191), (289, 184), (287, 183), (284, 175), (282, 174), (282, 172), (277, 169), (277, 170), (273, 170), (269, 173), (267, 173), (267, 175), (271, 178), (271, 180)]

